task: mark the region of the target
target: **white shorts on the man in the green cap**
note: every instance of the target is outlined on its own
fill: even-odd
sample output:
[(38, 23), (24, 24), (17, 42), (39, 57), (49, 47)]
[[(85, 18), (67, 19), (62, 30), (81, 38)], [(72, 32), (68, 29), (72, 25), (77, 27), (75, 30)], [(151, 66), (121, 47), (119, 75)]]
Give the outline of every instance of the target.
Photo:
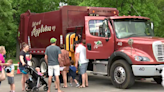
[(54, 65), (54, 66), (48, 66), (48, 75), (49, 76), (59, 76), (60, 75), (60, 66)]

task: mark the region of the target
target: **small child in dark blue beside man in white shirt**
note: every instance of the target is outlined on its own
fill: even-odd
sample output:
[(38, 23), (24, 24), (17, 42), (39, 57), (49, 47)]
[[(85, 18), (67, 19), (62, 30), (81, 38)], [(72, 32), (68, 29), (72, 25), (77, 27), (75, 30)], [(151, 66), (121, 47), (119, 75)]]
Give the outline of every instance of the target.
[(72, 86), (72, 79), (76, 83), (76, 87), (79, 87), (79, 83), (75, 79), (76, 77), (76, 67), (74, 66), (74, 61), (71, 60), (71, 66), (69, 67), (69, 75), (70, 75), (70, 85)]

